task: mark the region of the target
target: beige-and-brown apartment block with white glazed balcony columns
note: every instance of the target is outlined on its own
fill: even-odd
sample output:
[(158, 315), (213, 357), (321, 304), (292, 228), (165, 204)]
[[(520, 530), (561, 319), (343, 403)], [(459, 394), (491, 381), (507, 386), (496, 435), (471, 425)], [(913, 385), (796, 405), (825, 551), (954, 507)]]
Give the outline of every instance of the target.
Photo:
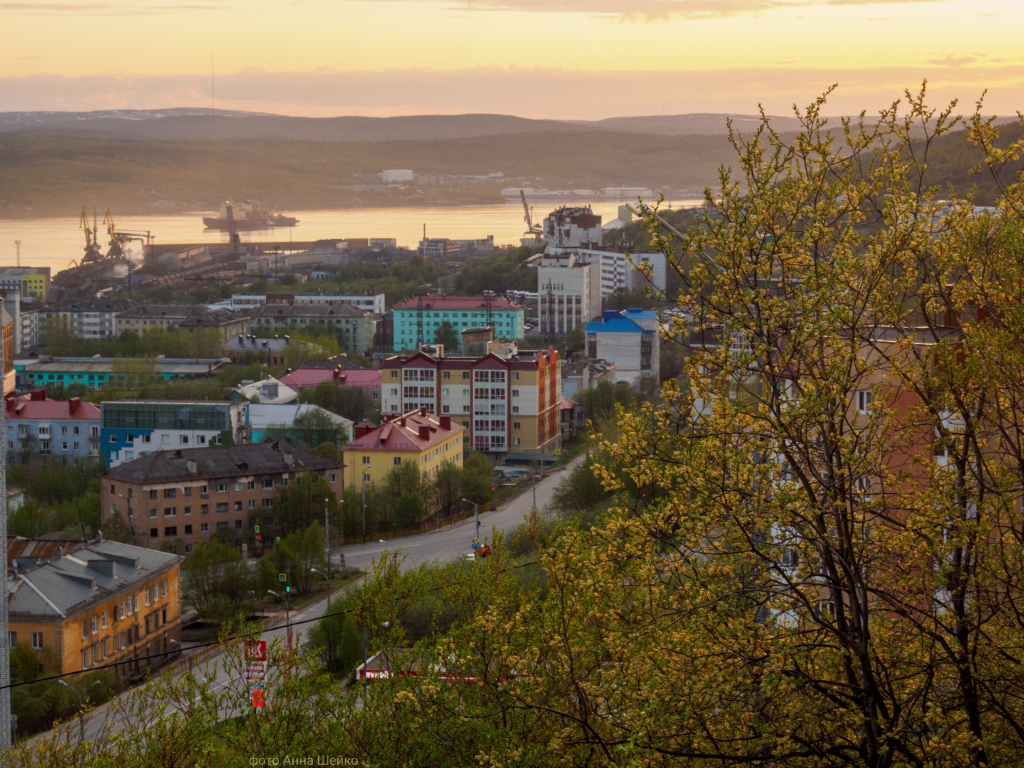
[(561, 361), (553, 349), (492, 342), (482, 357), (418, 352), (384, 360), (381, 413), (426, 409), (467, 428), (466, 446), (500, 458), (561, 446)]

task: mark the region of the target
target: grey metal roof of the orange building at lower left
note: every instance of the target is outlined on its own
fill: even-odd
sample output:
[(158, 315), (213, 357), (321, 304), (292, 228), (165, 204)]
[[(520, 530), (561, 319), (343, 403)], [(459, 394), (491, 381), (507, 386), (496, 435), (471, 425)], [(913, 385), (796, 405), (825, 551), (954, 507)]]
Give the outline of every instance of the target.
[[(20, 547), (18, 569), (8, 582), (8, 610), (11, 616), (66, 617), (90, 604), (110, 599), (122, 590), (140, 585), (155, 574), (184, 560), (168, 552), (109, 542), (40, 542), (31, 540)], [(53, 545), (58, 549), (52, 554)], [(65, 548), (67, 547), (67, 548)], [(46, 559), (31, 563), (38, 554)]]

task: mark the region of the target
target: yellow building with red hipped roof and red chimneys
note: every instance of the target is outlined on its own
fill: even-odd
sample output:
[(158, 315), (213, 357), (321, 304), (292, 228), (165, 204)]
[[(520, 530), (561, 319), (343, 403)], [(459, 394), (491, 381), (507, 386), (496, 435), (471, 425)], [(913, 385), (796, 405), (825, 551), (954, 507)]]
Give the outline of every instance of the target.
[(445, 464), (461, 467), (466, 428), (451, 416), (433, 416), (420, 408), (402, 416), (391, 415), (376, 429), (355, 427), (355, 439), (344, 447), (350, 482), (381, 482), (393, 467), (415, 464), (427, 480)]

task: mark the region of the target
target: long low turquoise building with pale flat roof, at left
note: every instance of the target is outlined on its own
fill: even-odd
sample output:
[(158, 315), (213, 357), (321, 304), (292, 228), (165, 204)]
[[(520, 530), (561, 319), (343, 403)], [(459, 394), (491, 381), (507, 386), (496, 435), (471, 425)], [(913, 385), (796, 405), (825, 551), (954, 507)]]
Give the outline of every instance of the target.
[(48, 384), (83, 384), (89, 389), (124, 389), (140, 376), (163, 379), (205, 379), (224, 366), (220, 357), (40, 357), (16, 360), (14, 371), (22, 388)]

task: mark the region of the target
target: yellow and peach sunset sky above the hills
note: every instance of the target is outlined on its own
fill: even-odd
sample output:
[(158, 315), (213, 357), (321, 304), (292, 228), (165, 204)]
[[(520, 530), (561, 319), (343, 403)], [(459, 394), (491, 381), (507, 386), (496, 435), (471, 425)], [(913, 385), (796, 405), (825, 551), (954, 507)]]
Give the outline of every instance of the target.
[[(0, 0), (0, 112), (1024, 110), (1017, 0)], [(212, 59), (212, 68), (211, 68)], [(214, 75), (211, 84), (211, 69)]]

